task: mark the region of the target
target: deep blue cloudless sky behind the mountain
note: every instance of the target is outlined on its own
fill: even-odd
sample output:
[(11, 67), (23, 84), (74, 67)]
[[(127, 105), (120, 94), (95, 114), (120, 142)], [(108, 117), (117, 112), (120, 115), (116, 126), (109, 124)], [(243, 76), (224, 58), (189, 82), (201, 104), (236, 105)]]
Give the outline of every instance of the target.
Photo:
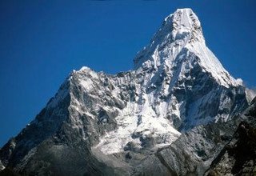
[(256, 1), (0, 2), (0, 146), (18, 134), (71, 70), (130, 70), (163, 18), (198, 14), (206, 43), (223, 66), (256, 86)]

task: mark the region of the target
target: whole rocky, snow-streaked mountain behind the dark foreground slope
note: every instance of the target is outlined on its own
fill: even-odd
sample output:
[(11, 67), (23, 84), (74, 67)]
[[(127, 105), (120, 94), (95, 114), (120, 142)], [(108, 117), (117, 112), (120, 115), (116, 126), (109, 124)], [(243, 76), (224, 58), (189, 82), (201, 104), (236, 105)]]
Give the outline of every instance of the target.
[[(2, 147), (2, 169), (22, 175), (203, 173), (232, 137), (225, 124), (249, 105), (248, 92), (207, 48), (194, 12), (178, 9), (138, 52), (134, 70), (74, 70), (34, 121)], [(227, 137), (215, 140), (222, 129)]]

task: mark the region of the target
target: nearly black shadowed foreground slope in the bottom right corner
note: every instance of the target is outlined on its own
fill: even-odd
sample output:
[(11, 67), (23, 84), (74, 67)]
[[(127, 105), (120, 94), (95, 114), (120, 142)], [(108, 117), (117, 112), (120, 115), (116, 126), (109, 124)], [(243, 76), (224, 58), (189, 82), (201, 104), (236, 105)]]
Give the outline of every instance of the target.
[(223, 147), (206, 175), (256, 174), (256, 103), (246, 110), (230, 142)]

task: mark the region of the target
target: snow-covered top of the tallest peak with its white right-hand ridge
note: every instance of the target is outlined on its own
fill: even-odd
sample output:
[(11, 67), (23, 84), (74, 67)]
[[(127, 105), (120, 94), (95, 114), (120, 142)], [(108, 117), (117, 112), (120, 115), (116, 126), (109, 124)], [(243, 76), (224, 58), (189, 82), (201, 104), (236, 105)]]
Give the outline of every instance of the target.
[[(242, 80), (230, 76), (206, 46), (201, 23), (191, 9), (178, 9), (165, 18), (150, 45), (134, 58), (134, 69), (158, 70), (168, 67), (174, 71), (173, 67), (180, 62), (198, 62), (202, 70), (211, 74), (222, 86), (242, 86)], [(182, 77), (183, 70), (180, 71)]]

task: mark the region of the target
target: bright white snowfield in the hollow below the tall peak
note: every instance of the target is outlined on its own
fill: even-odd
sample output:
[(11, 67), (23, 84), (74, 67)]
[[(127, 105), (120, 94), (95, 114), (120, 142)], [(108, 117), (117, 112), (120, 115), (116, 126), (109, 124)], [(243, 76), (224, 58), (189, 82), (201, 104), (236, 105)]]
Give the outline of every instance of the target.
[[(126, 108), (116, 118), (118, 130), (110, 131), (101, 138), (96, 148), (102, 150), (104, 154), (114, 154), (122, 152), (128, 142), (134, 142), (140, 148), (139, 138), (132, 138), (133, 134), (139, 133), (142, 136), (153, 138), (166, 137), (164, 143), (157, 144), (158, 147), (170, 145), (180, 133), (175, 130), (170, 122), (163, 117), (157, 117), (154, 110), (150, 108), (149, 99), (145, 96), (146, 102), (143, 106), (135, 103), (128, 103)], [(142, 118), (142, 123), (138, 125), (138, 117)]]

